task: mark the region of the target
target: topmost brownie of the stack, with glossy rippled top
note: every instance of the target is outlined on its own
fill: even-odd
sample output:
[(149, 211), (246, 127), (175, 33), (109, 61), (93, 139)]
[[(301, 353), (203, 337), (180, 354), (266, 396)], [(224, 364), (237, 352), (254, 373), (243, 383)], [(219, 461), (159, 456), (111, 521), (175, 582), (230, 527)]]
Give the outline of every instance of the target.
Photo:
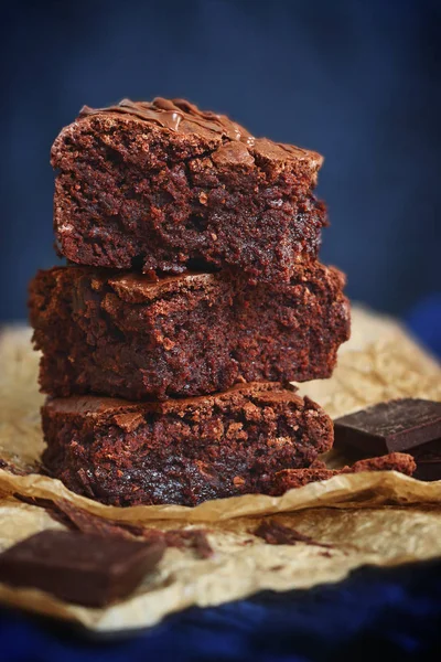
[(83, 265), (288, 281), (326, 224), (312, 193), (322, 160), (182, 99), (85, 106), (52, 148), (58, 249)]

